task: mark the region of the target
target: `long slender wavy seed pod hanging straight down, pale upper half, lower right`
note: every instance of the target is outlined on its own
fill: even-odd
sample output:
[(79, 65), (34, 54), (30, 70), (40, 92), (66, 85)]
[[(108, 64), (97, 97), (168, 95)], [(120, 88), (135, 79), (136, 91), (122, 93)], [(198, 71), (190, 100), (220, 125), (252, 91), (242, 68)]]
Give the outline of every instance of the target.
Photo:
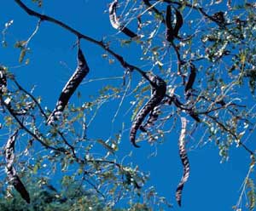
[(179, 137), (179, 156), (183, 163), (183, 177), (180, 180), (179, 184), (177, 185), (176, 190), (176, 201), (179, 206), (181, 206), (181, 198), (182, 198), (182, 191), (183, 186), (189, 179), (189, 158), (187, 156), (187, 152), (185, 149), (185, 134), (186, 134), (186, 127), (187, 127), (187, 120), (184, 117), (181, 117), (182, 121), (182, 129)]

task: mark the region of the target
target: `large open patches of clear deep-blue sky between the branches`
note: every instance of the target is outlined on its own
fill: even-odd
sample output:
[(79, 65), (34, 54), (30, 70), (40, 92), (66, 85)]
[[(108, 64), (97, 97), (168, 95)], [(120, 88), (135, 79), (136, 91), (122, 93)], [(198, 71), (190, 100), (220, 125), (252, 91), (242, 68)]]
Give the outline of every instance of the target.
[[(31, 1), (26, 1), (32, 5)], [(66, 22), (84, 34), (100, 40), (104, 36), (115, 36), (116, 31), (109, 24), (108, 14), (103, 11), (107, 9), (109, 1), (104, 0), (77, 0), (77, 1), (44, 1), (44, 8), (37, 9), (43, 14), (54, 16), (58, 20)], [(55, 100), (58, 98), (61, 88), (73, 73), (76, 66), (76, 49), (72, 48), (76, 40), (69, 32), (48, 22), (43, 22), (38, 34), (32, 38), (29, 47), (32, 53), (28, 55), (30, 64), (20, 66), (18, 57), (20, 51), (13, 49), (15, 41), (26, 40), (35, 29), (37, 19), (29, 17), (21, 10), (14, 1), (1, 1), (0, 29), (4, 24), (14, 20), (13, 26), (8, 31), (7, 41), (9, 48), (0, 48), (0, 62), (10, 67), (21, 84), (26, 88), (36, 85), (35, 94), (41, 95), (43, 105), (53, 109)], [(118, 35), (122, 37), (122, 35)], [(108, 60), (103, 60), (104, 54), (101, 48), (82, 41), (82, 48), (90, 66), (90, 74), (84, 82), (97, 77), (122, 77), (123, 69), (119, 65), (109, 66)], [(125, 55), (125, 59), (132, 64), (141, 64), (137, 60), (136, 49), (138, 46), (132, 44), (129, 48), (113, 48)], [(20, 67), (18, 67), (20, 66)], [(137, 74), (136, 77), (139, 77)], [(108, 82), (84, 83), (79, 90), (82, 93), (82, 100), (89, 100), (90, 94), (95, 93), (96, 88), (101, 88)], [(114, 80), (113, 83), (122, 83), (121, 80)], [(124, 111), (127, 108), (124, 108)], [(90, 135), (97, 137), (101, 128), (102, 137), (106, 139), (112, 133), (109, 120), (112, 119), (116, 107), (103, 106), (100, 117), (92, 124)], [(117, 117), (123, 118), (122, 115)], [(125, 118), (131, 118), (129, 115)], [(117, 121), (119, 123), (119, 121)], [(119, 127), (114, 124), (114, 127)], [(125, 125), (129, 128), (129, 125)], [(116, 130), (118, 131), (118, 130)], [(99, 136), (100, 137), (100, 136)], [(132, 147), (128, 139), (128, 130), (125, 132), (125, 139), (119, 146), (124, 155), (133, 151), (131, 161), (138, 164), (143, 171), (150, 172), (151, 177), (148, 185), (155, 185), (160, 195), (166, 197), (174, 204), (173, 210), (181, 211), (225, 211), (231, 210), (236, 205), (240, 195), (240, 187), (247, 174), (248, 154), (243, 149), (230, 150), (230, 161), (220, 164), (218, 149), (214, 143), (207, 143), (203, 147), (189, 151), (190, 177), (183, 189), (183, 207), (177, 208), (175, 191), (182, 176), (182, 164), (178, 157), (177, 133), (166, 136), (166, 141), (157, 146), (157, 157), (149, 157), (155, 151), (154, 146), (141, 143), (140, 149)], [(196, 143), (195, 137), (193, 143)], [(255, 137), (251, 137), (252, 139)]]

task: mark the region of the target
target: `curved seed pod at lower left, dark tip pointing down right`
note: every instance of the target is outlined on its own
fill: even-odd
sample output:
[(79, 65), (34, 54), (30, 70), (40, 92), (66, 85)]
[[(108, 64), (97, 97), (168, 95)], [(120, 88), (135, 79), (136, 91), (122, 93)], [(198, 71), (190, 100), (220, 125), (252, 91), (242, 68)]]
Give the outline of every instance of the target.
[(20, 193), (20, 196), (27, 202), (30, 203), (30, 197), (29, 193), (26, 191), (26, 187), (21, 182), (19, 176), (16, 174), (15, 168), (14, 168), (14, 162), (15, 162), (15, 140), (18, 134), (18, 130), (15, 131), (14, 134), (12, 134), (9, 137), (9, 140), (7, 141), (5, 145), (5, 160), (6, 160), (6, 174), (7, 179), (9, 180), (9, 183), (14, 185), (16, 191)]

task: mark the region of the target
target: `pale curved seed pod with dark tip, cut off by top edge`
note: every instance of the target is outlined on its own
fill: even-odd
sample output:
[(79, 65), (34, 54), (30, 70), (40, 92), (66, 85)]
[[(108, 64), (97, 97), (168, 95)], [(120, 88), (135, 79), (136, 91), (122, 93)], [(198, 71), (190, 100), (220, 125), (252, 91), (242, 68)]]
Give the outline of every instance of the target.
[(133, 31), (131, 31), (130, 29), (128, 29), (127, 27), (125, 27), (119, 23), (119, 20), (116, 15), (117, 5), (118, 5), (117, 0), (114, 0), (113, 3), (110, 3), (110, 5), (109, 5), (108, 11), (109, 11), (109, 20), (110, 20), (111, 25), (113, 26), (114, 29), (122, 31), (128, 37), (131, 37), (131, 38), (137, 37), (136, 33), (134, 33)]

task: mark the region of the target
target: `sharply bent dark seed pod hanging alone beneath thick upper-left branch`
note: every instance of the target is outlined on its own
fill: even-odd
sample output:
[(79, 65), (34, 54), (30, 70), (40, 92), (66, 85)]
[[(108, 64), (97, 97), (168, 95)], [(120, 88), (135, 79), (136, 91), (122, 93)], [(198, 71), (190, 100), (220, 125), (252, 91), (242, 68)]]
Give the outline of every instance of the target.
[(55, 120), (59, 119), (62, 111), (64, 111), (65, 107), (67, 106), (68, 100), (71, 98), (76, 88), (79, 87), (79, 84), (83, 81), (88, 72), (89, 66), (87, 65), (82, 50), (79, 48), (77, 69), (73, 73), (73, 76), (70, 77), (65, 87), (62, 89), (59, 100), (56, 103), (55, 110), (52, 111), (48, 117), (48, 124), (53, 124), (55, 123)]

